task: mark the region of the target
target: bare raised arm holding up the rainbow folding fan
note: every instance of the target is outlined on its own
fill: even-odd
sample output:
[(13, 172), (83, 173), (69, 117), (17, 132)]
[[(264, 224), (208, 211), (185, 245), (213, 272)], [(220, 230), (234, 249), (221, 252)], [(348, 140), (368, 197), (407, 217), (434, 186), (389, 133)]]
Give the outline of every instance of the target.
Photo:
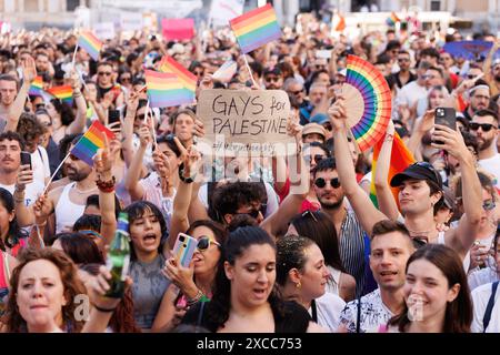
[(330, 122), (334, 132), (333, 140), (336, 144), (333, 153), (336, 156), (337, 172), (339, 173), (340, 183), (364, 231), (368, 234), (371, 234), (373, 224), (381, 220), (387, 220), (387, 216), (376, 209), (370, 200), (370, 196), (364, 193), (356, 181), (354, 165), (352, 164), (347, 139), (347, 115), (349, 113), (346, 112), (344, 99), (342, 95), (339, 95), (338, 100), (330, 108), (328, 113), (330, 115)]

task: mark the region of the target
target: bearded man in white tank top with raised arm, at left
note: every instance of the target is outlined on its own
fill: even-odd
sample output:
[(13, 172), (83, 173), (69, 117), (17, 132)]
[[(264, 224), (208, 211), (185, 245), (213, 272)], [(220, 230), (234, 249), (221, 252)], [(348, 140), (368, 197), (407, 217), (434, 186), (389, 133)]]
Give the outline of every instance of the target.
[[(81, 136), (82, 134), (79, 134), (73, 139), (70, 151)], [(38, 221), (47, 220), (53, 213), (56, 217), (56, 233), (71, 231), (74, 222), (83, 214), (87, 197), (99, 193), (96, 184), (96, 172), (92, 166), (89, 166), (73, 154), (68, 156), (64, 164), (71, 183), (56, 187), (48, 195), (40, 196), (41, 209), (37, 216)], [(18, 186), (22, 187), (19, 181)], [(20, 226), (34, 223), (33, 206), (27, 207), (24, 204), (19, 204), (17, 199), (16, 215)]]

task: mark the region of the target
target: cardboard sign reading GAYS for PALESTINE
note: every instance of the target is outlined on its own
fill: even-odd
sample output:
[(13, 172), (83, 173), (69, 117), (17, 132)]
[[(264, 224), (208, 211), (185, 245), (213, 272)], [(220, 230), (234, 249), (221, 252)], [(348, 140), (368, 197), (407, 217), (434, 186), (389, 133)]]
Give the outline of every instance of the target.
[(296, 141), (287, 134), (289, 114), (290, 101), (282, 90), (202, 90), (197, 115), (206, 135), (200, 146), (226, 156), (292, 154)]

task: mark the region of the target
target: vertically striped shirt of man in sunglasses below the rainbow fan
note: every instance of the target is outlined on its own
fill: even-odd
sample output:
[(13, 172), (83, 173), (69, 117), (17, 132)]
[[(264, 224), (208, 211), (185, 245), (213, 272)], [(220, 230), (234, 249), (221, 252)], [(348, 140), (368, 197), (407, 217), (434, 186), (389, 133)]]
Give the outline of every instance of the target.
[(340, 227), (340, 258), (346, 272), (356, 280), (356, 297), (364, 287), (364, 231), (356, 213), (347, 209)]

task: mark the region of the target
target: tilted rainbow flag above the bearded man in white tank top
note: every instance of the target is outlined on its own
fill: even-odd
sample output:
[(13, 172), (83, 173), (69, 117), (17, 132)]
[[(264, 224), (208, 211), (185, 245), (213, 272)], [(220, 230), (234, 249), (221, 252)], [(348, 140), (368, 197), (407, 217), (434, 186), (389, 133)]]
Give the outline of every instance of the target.
[(114, 133), (102, 125), (99, 120), (93, 121), (83, 136), (74, 144), (71, 154), (93, 166), (93, 156), (97, 154), (98, 149), (106, 146), (104, 134), (109, 141), (114, 139)]

